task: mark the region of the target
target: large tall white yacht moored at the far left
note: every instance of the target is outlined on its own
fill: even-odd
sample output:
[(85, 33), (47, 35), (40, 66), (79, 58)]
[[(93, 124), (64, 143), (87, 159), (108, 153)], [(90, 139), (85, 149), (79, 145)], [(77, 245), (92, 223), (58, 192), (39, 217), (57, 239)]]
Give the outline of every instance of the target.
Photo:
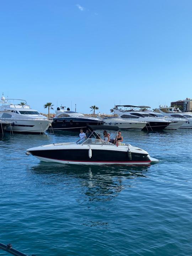
[(7, 131), (43, 134), (53, 121), (30, 108), (25, 100), (5, 100), (2, 96), (0, 103), (0, 119), (12, 123), (7, 127)]

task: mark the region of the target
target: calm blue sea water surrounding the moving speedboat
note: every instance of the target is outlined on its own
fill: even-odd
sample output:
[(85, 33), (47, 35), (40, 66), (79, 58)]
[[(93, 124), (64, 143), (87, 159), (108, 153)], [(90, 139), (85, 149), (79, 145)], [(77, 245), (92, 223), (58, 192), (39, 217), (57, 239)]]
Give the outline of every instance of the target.
[(0, 138), (0, 242), (37, 256), (191, 256), (192, 130), (122, 135), (160, 162), (51, 164), (25, 150), (78, 135)]

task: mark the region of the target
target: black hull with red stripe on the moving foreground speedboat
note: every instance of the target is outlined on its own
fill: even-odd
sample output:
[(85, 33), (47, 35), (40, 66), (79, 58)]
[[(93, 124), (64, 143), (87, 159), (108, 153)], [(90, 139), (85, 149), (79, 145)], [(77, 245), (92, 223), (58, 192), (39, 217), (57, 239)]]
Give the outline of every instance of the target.
[[(119, 146), (120, 148), (120, 146)], [(66, 164), (150, 164), (148, 153), (131, 153), (128, 156), (127, 148), (123, 150), (93, 149), (91, 158), (89, 148), (86, 149), (47, 149), (47, 150), (27, 150), (39, 160), (46, 162), (59, 162)]]

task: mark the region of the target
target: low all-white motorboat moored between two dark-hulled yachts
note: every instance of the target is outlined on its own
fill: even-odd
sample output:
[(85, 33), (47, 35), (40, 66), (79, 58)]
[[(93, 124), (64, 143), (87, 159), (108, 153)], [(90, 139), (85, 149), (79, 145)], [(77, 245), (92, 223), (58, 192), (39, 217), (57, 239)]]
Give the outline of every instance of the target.
[(103, 118), (105, 125), (108, 126), (118, 126), (119, 129), (134, 129), (134, 130), (142, 130), (147, 122), (135, 121), (135, 120), (125, 120), (120, 117), (105, 117)]

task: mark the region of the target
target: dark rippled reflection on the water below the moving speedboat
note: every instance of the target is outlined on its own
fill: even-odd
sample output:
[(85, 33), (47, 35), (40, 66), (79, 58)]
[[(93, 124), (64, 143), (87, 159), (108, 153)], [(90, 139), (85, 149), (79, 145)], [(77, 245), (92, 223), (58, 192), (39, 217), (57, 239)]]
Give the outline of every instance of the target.
[(41, 180), (45, 179), (43, 183), (49, 185), (71, 183), (73, 188), (78, 186), (89, 201), (108, 201), (118, 196), (125, 187), (132, 187), (131, 180), (146, 178), (148, 168), (150, 166), (82, 166), (40, 162), (30, 172), (40, 176)]

